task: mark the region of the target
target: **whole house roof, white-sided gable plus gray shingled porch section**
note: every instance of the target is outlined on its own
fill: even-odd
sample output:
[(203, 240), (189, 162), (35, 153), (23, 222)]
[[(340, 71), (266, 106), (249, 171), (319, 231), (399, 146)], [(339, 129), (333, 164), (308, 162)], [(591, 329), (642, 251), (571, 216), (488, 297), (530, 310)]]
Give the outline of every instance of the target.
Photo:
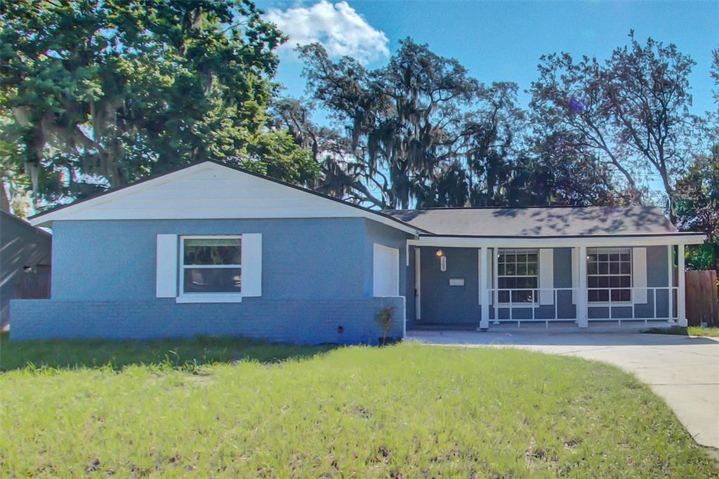
[(571, 238), (680, 233), (661, 209), (628, 207), (370, 210), (247, 169), (205, 161), (29, 218), (63, 220), (369, 218), (414, 236)]

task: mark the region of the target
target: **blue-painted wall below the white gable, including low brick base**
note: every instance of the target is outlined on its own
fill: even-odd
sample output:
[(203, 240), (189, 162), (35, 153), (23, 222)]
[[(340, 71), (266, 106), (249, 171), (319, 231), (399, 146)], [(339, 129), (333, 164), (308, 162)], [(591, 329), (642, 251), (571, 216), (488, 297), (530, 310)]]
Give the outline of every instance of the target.
[[(13, 302), (13, 339), (241, 335), (293, 343), (376, 342), (375, 322), (404, 298), (372, 298), (372, 243), (406, 235), (364, 218), (63, 221), (54, 225), (50, 301)], [(176, 304), (155, 297), (157, 235), (262, 233), (262, 297)], [(404, 263), (401, 263), (403, 266)], [(406, 268), (400, 267), (404, 292)], [(338, 332), (342, 326), (343, 332)], [(374, 338), (374, 339), (372, 339)]]

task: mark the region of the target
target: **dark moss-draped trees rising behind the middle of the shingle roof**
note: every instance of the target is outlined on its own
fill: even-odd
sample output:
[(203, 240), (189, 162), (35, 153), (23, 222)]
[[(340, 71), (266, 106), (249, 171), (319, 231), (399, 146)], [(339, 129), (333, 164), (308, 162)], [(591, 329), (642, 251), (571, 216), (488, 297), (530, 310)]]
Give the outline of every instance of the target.
[[(556, 204), (609, 196), (597, 192), (606, 189), (601, 169), (574, 182), (572, 167), (555, 168), (554, 161), (526, 154), (525, 115), (513, 83), (483, 85), (457, 60), (411, 39), (400, 42), (388, 65), (377, 70), (349, 57), (334, 62), (319, 44), (300, 52), (311, 105), (329, 111), (338, 128), (313, 125), (311, 105), (298, 101), (284, 101), (276, 113), (321, 164), (315, 186), (322, 192), (379, 208)], [(555, 194), (540, 178), (564, 190)], [(583, 188), (590, 190), (586, 197)]]

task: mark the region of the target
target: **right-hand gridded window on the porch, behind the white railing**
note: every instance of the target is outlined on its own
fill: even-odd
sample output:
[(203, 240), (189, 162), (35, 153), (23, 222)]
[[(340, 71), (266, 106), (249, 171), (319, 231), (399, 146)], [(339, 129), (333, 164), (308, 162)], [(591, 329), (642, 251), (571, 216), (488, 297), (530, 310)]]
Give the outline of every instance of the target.
[(631, 302), (631, 249), (587, 249), (589, 302)]

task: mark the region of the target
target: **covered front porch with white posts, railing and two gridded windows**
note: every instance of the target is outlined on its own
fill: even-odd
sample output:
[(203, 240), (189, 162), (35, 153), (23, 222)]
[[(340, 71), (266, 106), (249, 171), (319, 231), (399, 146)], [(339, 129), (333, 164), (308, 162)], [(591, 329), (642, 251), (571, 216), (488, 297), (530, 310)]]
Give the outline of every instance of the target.
[(686, 325), (684, 244), (697, 239), (408, 240), (415, 291), (408, 328), (630, 332)]

